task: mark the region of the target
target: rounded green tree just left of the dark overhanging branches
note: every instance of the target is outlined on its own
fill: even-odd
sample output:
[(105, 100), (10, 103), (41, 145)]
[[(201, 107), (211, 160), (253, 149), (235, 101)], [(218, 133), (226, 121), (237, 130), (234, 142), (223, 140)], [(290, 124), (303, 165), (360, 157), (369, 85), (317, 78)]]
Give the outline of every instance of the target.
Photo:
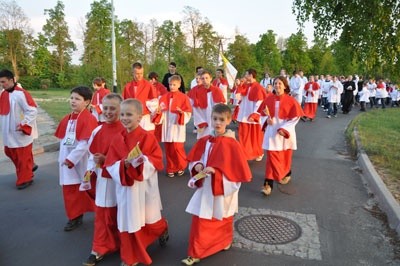
[(283, 52), (283, 65), (289, 74), (294, 70), (303, 70), (306, 74), (310, 72), (312, 62), (307, 50), (307, 39), (303, 32), (290, 35)]

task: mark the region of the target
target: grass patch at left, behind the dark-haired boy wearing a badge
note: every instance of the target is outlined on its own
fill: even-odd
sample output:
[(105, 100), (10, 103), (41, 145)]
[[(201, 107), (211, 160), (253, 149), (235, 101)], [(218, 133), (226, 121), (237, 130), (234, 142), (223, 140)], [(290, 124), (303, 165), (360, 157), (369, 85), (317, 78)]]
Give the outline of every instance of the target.
[(66, 114), (71, 112), (68, 102), (69, 90), (30, 90), (29, 93), (35, 99), (36, 103), (57, 123), (60, 122)]

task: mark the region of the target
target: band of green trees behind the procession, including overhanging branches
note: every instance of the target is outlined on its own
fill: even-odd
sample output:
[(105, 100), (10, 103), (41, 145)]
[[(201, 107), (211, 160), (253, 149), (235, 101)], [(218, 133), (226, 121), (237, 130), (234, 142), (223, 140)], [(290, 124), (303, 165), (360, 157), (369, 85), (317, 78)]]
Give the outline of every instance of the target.
[[(129, 81), (131, 64), (139, 61), (145, 75), (155, 71), (160, 77), (175, 61), (184, 79), (192, 80), (196, 66), (214, 71), (219, 66), (219, 44), (225, 57), (237, 68), (238, 77), (249, 68), (278, 75), (303, 70), (306, 75), (359, 74), (399, 80), (399, 1), (294, 0), (293, 13), (301, 26), (310, 18), (315, 23), (309, 47), (300, 30), (285, 38), (268, 27), (259, 39), (250, 42), (237, 31), (226, 38), (199, 10), (185, 6), (182, 18), (148, 22), (115, 17), (118, 85)], [(81, 21), (83, 53), (73, 64), (76, 44), (65, 21), (64, 4), (58, 0), (44, 10), (46, 23), (36, 36), (29, 19), (14, 0), (0, 0), (0, 65), (20, 75), (28, 88), (48, 86), (71, 88), (91, 85), (94, 77), (112, 80), (111, 21), (108, 0), (91, 4)], [(111, 82), (110, 82), (111, 83)]]

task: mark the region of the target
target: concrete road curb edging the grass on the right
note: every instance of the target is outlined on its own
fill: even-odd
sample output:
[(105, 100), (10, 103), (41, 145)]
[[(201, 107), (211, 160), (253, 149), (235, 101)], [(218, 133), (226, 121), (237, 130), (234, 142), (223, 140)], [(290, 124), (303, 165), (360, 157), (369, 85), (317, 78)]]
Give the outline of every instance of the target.
[(386, 213), (390, 228), (396, 230), (400, 235), (400, 205), (388, 190), (382, 178), (376, 172), (374, 166), (365, 153), (357, 128), (354, 128), (353, 135), (357, 145), (357, 162), (363, 173), (365, 181), (368, 183), (371, 191), (375, 194), (379, 207)]

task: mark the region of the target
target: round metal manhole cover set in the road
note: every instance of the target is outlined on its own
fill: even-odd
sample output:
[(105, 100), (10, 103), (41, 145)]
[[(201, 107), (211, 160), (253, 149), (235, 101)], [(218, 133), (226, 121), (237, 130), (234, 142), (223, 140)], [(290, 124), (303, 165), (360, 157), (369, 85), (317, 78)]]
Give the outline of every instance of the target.
[(269, 245), (286, 244), (301, 236), (298, 224), (276, 215), (250, 215), (235, 223), (238, 233), (251, 241)]

